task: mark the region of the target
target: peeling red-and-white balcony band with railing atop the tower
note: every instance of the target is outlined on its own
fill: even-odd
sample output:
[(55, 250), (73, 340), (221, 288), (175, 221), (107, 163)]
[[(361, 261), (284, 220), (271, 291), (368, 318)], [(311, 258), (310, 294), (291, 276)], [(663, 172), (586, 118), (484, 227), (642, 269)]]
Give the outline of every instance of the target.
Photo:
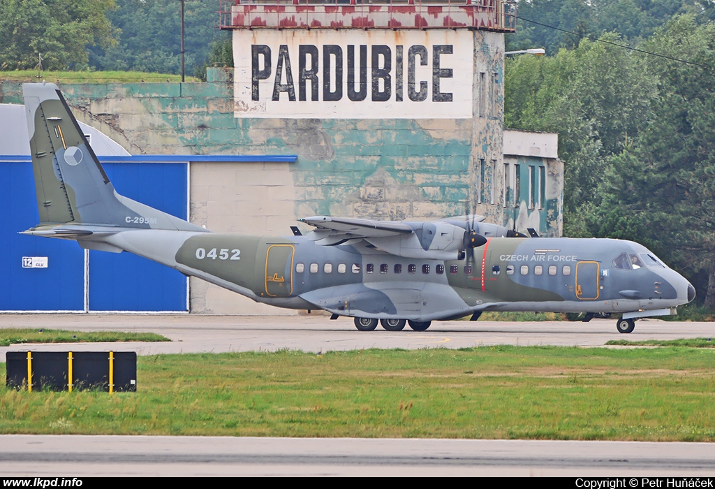
[(479, 29), (513, 32), (511, 0), (220, 0), (221, 29)]

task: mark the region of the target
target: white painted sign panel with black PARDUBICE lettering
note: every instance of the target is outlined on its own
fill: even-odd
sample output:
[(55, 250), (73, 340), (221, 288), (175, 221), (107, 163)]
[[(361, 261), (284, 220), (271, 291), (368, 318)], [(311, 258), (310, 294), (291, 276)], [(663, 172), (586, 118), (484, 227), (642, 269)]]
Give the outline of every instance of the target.
[(467, 119), (468, 31), (234, 31), (236, 117)]

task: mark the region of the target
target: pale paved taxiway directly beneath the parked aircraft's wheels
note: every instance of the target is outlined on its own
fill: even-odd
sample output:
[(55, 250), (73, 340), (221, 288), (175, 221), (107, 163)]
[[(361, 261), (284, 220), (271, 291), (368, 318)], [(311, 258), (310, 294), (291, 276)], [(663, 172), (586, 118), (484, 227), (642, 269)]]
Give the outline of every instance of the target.
[[(358, 331), (350, 318), (331, 321), (325, 315), (209, 316), (209, 315), (0, 315), (0, 327), (101, 331), (142, 331), (164, 335), (171, 342), (79, 343), (72, 350), (135, 351), (160, 353), (275, 351), (305, 352), (363, 350), (368, 348), (463, 348), (489, 345), (556, 345), (595, 347), (608, 340), (672, 340), (713, 337), (712, 322), (667, 322), (645, 319), (623, 335), (616, 320), (591, 322), (434, 321), (430, 329), (416, 332)], [(30, 345), (0, 347), (5, 352), (25, 351)], [(56, 350), (57, 345), (31, 345), (33, 350)], [(66, 347), (66, 345), (63, 345)]]

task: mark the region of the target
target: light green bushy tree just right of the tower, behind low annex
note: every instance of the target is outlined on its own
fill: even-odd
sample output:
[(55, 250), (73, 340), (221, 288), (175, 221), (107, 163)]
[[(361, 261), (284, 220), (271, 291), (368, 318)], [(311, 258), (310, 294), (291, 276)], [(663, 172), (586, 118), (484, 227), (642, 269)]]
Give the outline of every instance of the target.
[[(601, 39), (619, 42), (617, 34)], [(519, 56), (506, 66), (505, 124), (558, 132), (564, 169), (564, 232), (591, 236), (586, 217), (613, 154), (649, 120), (656, 81), (631, 52), (583, 39), (556, 56)]]

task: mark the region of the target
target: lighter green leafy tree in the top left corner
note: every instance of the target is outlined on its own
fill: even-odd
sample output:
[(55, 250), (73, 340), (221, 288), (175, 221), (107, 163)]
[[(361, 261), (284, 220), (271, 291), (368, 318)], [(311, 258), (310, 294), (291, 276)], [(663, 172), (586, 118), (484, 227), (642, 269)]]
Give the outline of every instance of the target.
[(84, 68), (87, 46), (109, 47), (114, 0), (0, 1), (0, 69)]

